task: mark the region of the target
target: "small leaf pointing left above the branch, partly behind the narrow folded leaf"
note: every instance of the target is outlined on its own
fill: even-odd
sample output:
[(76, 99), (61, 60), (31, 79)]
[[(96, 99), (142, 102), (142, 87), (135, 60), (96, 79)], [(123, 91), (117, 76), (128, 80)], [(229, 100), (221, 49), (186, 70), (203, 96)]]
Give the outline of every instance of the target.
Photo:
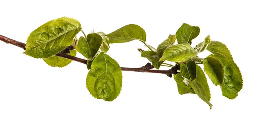
[(159, 58), (157, 56), (157, 52), (155, 51), (143, 51), (141, 53), (141, 57), (147, 58), (156, 69), (159, 69), (160, 65), (163, 64), (163, 62), (158, 62)]

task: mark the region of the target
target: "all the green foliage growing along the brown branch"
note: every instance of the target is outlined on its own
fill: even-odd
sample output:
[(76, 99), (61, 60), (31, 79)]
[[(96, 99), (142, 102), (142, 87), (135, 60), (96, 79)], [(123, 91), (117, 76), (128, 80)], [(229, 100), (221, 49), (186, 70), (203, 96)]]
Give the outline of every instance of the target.
[[(76, 56), (76, 52), (79, 52), (87, 58), (87, 69), (90, 70), (86, 79), (87, 89), (93, 97), (105, 101), (117, 98), (122, 87), (121, 67), (107, 54), (110, 44), (133, 40), (142, 42), (148, 48), (139, 48), (138, 51), (141, 52), (141, 57), (148, 59), (156, 69), (179, 65), (180, 69), (174, 75), (178, 92), (181, 95), (197, 94), (210, 108), (211, 95), (204, 72), (213, 84), (221, 87), (222, 95), (227, 98), (236, 98), (242, 88), (243, 80), (239, 67), (233, 61), (226, 45), (212, 41), (208, 35), (195, 48), (191, 46), (192, 39), (200, 33), (197, 26), (184, 23), (175, 35), (170, 34), (157, 48), (146, 44), (146, 33), (139, 25), (125, 25), (110, 34), (93, 31), (77, 39), (76, 35), (81, 29), (80, 22), (73, 18), (51, 20), (29, 35), (24, 53), (44, 59), (44, 62), (52, 67), (64, 67), (72, 60), (55, 54), (72, 46), (73, 50), (69, 51), (69, 55)], [(212, 54), (202, 59), (198, 55), (204, 50)], [(204, 70), (199, 66), (201, 64)]]

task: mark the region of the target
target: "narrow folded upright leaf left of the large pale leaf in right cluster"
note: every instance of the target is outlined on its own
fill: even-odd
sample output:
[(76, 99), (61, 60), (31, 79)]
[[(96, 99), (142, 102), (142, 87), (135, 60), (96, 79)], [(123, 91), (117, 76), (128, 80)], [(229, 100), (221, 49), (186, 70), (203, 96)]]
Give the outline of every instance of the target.
[(164, 42), (162, 42), (160, 45), (158, 45), (158, 47), (157, 47), (157, 56), (158, 56), (159, 58), (161, 58), (162, 55), (163, 55), (163, 51), (164, 51), (167, 47), (169, 47), (170, 45), (173, 45), (174, 42), (175, 42), (175, 40), (176, 40), (175, 35), (171, 35), (171, 34), (170, 34), (169, 37), (168, 37)]

